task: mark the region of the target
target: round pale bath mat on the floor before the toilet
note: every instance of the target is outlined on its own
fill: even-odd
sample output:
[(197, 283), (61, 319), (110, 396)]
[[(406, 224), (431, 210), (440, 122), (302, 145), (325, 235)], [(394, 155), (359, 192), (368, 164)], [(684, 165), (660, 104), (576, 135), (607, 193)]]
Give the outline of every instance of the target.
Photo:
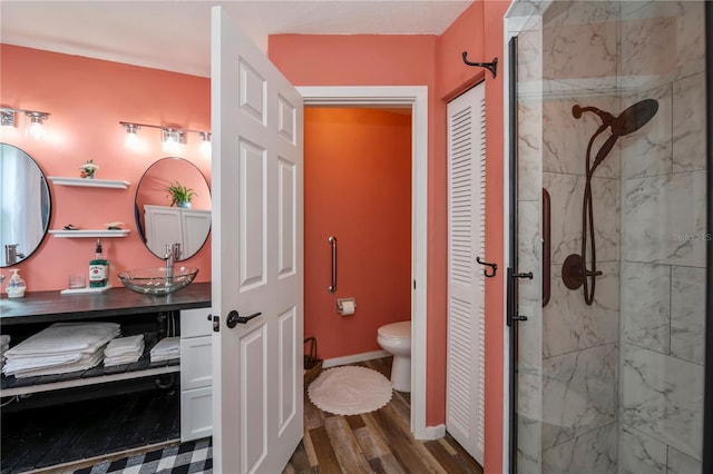
[(322, 372), (307, 387), (307, 395), (324, 412), (359, 415), (389, 403), (391, 382), (371, 368), (348, 365)]

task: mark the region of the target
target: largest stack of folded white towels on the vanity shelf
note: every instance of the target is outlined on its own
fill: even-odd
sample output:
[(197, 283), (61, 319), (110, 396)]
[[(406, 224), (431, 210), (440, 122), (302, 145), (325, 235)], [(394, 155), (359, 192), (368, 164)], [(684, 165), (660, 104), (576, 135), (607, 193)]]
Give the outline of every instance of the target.
[(120, 332), (115, 323), (55, 323), (6, 352), (2, 373), (21, 378), (86, 371)]

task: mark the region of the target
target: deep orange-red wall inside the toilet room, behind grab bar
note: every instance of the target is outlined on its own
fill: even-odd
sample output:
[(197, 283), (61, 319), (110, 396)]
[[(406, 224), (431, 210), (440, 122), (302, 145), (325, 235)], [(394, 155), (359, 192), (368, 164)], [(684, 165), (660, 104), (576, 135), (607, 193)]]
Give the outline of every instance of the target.
[[(338, 285), (330, 294), (331, 247)], [(336, 298), (356, 312), (340, 316)], [(304, 333), (320, 357), (380, 350), (379, 326), (411, 317), (411, 116), (304, 110)]]

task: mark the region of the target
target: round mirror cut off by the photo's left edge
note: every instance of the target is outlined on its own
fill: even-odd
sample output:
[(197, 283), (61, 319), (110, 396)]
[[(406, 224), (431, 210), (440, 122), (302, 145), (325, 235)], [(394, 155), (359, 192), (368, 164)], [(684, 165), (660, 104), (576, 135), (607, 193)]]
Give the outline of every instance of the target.
[(16, 265), (42, 243), (51, 213), (49, 186), (31, 156), (0, 144), (0, 267)]

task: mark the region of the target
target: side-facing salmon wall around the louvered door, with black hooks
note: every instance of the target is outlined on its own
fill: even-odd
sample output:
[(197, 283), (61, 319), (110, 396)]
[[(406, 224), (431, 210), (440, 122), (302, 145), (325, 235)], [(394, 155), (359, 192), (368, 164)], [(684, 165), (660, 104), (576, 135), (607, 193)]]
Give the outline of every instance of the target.
[[(439, 96), (445, 101), (485, 80), (486, 82), (486, 261), (500, 267), (495, 278), (486, 278), (486, 387), (485, 472), (502, 473), (505, 357), (505, 236), (504, 236), (504, 85), (505, 45), (502, 23), (510, 1), (476, 1), (440, 37)], [(473, 62), (499, 60), (496, 78), (484, 68), (467, 66), (462, 52)], [(443, 111), (443, 120), (446, 120)], [(446, 139), (446, 137), (443, 137)], [(445, 147), (445, 141), (443, 141)], [(440, 148), (440, 147), (439, 147)]]

